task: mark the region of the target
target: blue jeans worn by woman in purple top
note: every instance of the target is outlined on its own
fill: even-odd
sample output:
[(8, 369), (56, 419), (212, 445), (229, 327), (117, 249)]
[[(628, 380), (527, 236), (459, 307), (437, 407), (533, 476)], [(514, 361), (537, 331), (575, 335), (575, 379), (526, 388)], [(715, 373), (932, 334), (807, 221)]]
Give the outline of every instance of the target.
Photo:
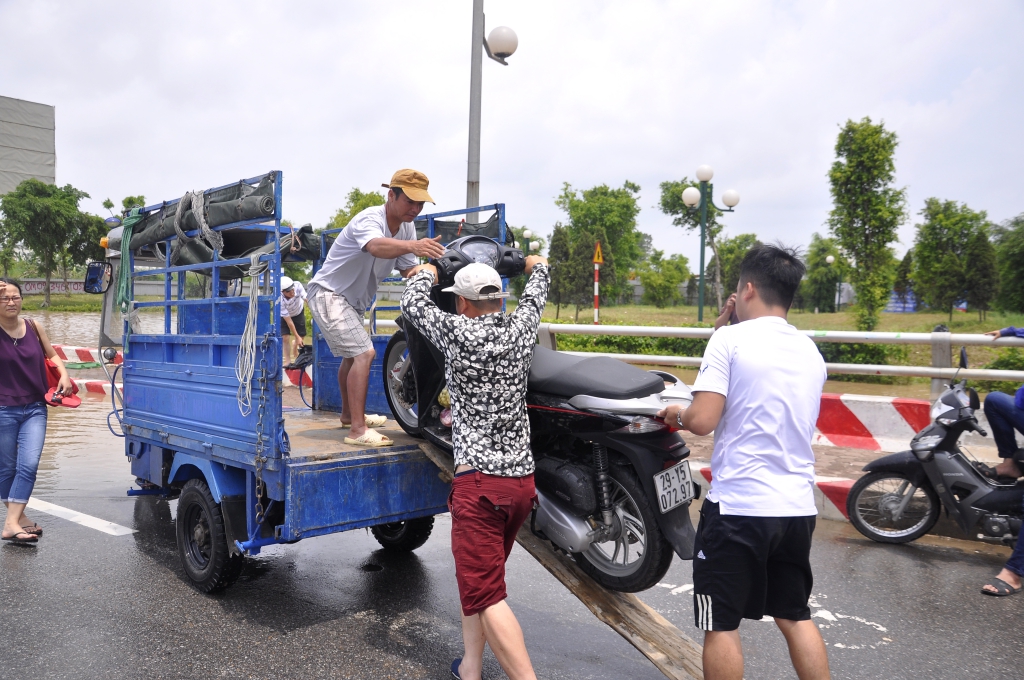
[(0, 407), (0, 500), (28, 503), (46, 439), (46, 403)]

